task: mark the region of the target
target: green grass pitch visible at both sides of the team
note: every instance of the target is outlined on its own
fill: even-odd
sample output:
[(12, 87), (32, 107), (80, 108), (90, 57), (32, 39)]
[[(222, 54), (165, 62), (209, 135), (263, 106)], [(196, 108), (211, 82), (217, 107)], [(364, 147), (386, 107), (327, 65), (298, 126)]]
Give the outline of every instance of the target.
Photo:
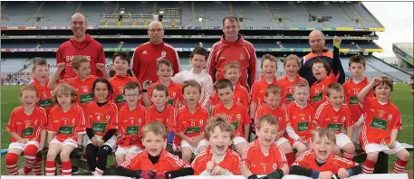
[[(7, 148), (10, 144), (10, 135), (5, 130), (5, 127), (10, 118), (10, 113), (14, 108), (20, 105), (19, 86), (2, 86), (1, 87), (1, 148)], [(395, 85), (394, 92), (391, 95), (392, 102), (400, 108), (402, 116), (403, 129), (399, 133), (398, 141), (407, 144), (413, 144), (413, 97), (409, 95), (410, 87), (407, 85)], [(413, 153), (410, 153), (411, 159), (409, 160), (408, 170), (413, 169)], [(396, 157), (390, 156), (389, 168), (394, 165)], [(114, 164), (114, 156), (110, 156), (109, 164)], [(23, 157), (19, 157), (19, 166), (24, 166)], [(7, 174), (5, 168), (5, 155), (1, 156), (1, 175)]]

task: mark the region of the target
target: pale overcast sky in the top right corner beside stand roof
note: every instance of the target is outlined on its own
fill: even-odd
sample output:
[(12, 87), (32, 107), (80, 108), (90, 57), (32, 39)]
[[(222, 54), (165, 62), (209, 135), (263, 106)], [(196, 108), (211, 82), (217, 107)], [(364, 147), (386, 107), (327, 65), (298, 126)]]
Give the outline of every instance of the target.
[(393, 42), (413, 42), (413, 2), (362, 2), (373, 14), (385, 32), (377, 33), (380, 40), (374, 41), (384, 49), (375, 53), (377, 57), (393, 57)]

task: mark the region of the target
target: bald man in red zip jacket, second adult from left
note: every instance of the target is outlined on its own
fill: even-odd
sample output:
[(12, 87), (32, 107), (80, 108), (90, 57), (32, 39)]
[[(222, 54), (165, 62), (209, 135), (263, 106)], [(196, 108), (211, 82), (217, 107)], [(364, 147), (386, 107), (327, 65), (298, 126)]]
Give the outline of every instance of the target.
[(179, 58), (178, 53), (166, 42), (162, 41), (164, 36), (164, 29), (162, 24), (154, 21), (148, 27), (149, 42), (145, 42), (135, 49), (130, 61), (131, 69), (140, 85), (146, 80), (157, 82), (159, 76), (157, 75), (157, 61), (165, 59), (171, 61), (173, 66), (173, 74), (179, 72)]

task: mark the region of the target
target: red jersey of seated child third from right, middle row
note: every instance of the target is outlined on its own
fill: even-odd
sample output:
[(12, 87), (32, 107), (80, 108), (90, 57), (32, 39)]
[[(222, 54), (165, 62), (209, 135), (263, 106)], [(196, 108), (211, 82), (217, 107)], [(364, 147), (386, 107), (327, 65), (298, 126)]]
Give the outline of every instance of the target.
[[(299, 107), (296, 102), (291, 102), (286, 106), (286, 121), (289, 126), (294, 128), (294, 132), (299, 137), (312, 137), (311, 131), (314, 128), (313, 118), (315, 111), (311, 105), (306, 103), (304, 108)], [(293, 145), (293, 138), (289, 137)]]

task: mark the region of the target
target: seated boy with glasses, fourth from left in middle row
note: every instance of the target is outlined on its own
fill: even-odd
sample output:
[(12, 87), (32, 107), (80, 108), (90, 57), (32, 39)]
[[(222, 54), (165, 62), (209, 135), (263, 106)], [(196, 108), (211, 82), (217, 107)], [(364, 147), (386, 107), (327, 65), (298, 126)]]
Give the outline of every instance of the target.
[(123, 87), (123, 99), (127, 103), (120, 108), (119, 121), (120, 129), (115, 152), (117, 165), (129, 160), (132, 155), (137, 154), (142, 148), (140, 140), (142, 127), (145, 125), (147, 108), (140, 105), (140, 85), (135, 82), (128, 82)]

